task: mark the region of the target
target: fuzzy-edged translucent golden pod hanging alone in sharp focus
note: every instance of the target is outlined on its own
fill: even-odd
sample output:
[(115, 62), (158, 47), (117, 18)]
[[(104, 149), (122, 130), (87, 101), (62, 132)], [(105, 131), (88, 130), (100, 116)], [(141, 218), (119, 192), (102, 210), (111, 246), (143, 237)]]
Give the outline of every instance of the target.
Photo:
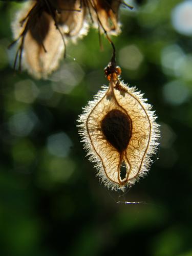
[(143, 177), (158, 146), (156, 116), (136, 88), (110, 82), (79, 116), (79, 134), (101, 182), (124, 190)]

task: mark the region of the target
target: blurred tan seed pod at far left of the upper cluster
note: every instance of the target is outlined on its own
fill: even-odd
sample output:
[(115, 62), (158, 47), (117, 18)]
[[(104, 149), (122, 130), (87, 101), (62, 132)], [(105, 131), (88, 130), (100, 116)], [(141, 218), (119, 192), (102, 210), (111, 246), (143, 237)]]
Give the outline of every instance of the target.
[(47, 77), (57, 68), (65, 48), (62, 34), (55, 23), (56, 10), (52, 5), (50, 8), (44, 1), (30, 1), (17, 13), (12, 23), (14, 42), (18, 41), (19, 44), (19, 68), (24, 57), (25, 67), (37, 78)]

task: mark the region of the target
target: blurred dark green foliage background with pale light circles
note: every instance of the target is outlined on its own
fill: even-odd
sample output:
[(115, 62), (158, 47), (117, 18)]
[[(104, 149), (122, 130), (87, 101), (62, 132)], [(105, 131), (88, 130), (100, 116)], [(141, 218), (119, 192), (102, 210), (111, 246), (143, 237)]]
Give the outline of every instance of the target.
[[(47, 80), (14, 74), (16, 48), (7, 46), (20, 4), (0, 2), (1, 255), (192, 255), (192, 39), (171, 23), (181, 2), (121, 8), (113, 41), (122, 79), (145, 93), (162, 132), (150, 173), (124, 196), (99, 183), (76, 127), (81, 108), (107, 84), (109, 42), (102, 37), (101, 51), (91, 29)], [(124, 200), (147, 203), (116, 203)]]

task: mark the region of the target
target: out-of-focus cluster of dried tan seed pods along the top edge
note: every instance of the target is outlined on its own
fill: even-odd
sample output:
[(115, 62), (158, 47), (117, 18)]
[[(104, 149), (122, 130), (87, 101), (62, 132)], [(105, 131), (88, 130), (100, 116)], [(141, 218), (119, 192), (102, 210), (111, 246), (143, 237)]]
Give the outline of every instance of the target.
[[(19, 47), (14, 68), (22, 58), (28, 71), (47, 77), (58, 67), (69, 40), (87, 35), (89, 25), (99, 31), (117, 35), (119, 0), (34, 0), (28, 1), (12, 23), (15, 42)], [(101, 29), (100, 29), (101, 28)]]

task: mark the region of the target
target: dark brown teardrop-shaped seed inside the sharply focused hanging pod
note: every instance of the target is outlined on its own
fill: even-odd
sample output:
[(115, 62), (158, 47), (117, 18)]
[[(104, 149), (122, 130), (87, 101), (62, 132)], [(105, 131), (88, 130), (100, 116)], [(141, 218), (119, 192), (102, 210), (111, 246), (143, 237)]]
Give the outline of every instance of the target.
[(101, 121), (101, 130), (106, 140), (122, 153), (129, 144), (132, 123), (129, 116), (120, 110), (111, 110)]

